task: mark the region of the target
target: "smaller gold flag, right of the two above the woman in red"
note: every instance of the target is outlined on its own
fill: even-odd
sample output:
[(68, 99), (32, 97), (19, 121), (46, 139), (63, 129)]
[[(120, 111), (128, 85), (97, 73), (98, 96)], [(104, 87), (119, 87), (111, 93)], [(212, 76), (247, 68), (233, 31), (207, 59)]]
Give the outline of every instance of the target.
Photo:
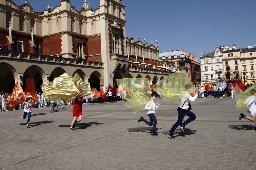
[[(84, 82), (84, 80), (79, 76), (78, 73), (76, 73), (74, 76), (71, 77), (71, 80), (75, 84), (76, 88), (82, 93), (82, 97), (88, 96), (90, 94), (93, 94), (93, 92), (89, 89), (87, 84)], [(77, 91), (76, 91), (77, 93)], [(72, 98), (73, 100), (74, 98)]]

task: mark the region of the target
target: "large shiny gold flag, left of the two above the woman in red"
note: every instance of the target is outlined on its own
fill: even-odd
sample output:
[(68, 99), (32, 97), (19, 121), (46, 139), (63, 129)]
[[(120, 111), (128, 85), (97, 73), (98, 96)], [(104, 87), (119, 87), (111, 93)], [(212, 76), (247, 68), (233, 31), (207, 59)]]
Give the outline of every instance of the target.
[(43, 94), (51, 100), (52, 103), (65, 101), (68, 103), (77, 94), (78, 89), (69, 78), (67, 73), (56, 77), (53, 82), (45, 82), (41, 85)]

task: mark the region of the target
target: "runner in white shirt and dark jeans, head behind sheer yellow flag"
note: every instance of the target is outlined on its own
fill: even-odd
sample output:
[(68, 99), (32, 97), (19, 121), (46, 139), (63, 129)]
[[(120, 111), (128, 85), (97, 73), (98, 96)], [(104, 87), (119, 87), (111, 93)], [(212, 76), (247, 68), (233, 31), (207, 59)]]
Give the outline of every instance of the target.
[[(185, 85), (185, 90), (187, 92), (191, 91), (191, 85), (189, 84), (186, 84)], [(198, 96), (198, 91), (197, 92), (191, 92), (191, 93), (188, 93), (188, 94), (185, 94), (182, 98), (181, 98), (181, 104), (180, 106), (178, 107), (178, 120), (176, 123), (174, 123), (174, 125), (172, 126), (171, 130), (167, 133), (167, 135), (171, 138), (171, 139), (175, 139), (175, 137), (173, 136), (173, 132), (174, 130), (178, 127), (178, 126), (181, 126), (181, 130), (183, 132), (185, 132), (185, 125), (187, 125), (188, 123), (192, 122), (193, 120), (196, 119), (196, 115), (190, 111), (191, 108), (189, 108), (190, 105), (190, 101), (191, 102), (194, 102), (196, 100)], [(189, 116), (189, 118), (184, 121), (184, 117), (186, 116)]]

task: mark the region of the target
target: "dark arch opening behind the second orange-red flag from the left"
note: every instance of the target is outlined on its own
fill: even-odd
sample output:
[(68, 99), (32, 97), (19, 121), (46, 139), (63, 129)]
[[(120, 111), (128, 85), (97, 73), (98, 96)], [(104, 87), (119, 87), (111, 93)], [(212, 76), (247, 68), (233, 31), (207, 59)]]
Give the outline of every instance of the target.
[(35, 91), (42, 93), (41, 85), (43, 84), (43, 79), (45, 80), (44, 71), (36, 65), (32, 65), (28, 67), (23, 73), (23, 78), (22, 78), (22, 84), (24, 89), (26, 87), (27, 80), (31, 77), (34, 77)]

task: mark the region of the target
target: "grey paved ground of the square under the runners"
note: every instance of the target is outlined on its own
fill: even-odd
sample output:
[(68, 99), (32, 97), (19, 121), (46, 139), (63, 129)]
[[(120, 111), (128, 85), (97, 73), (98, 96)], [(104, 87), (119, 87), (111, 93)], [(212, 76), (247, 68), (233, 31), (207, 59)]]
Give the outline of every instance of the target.
[[(239, 120), (246, 108), (236, 99), (198, 98), (192, 103), (197, 118), (166, 133), (177, 120), (179, 103), (156, 110), (159, 136), (139, 122), (146, 111), (132, 114), (123, 102), (83, 104), (83, 120), (74, 131), (73, 105), (33, 108), (30, 127), (23, 110), (0, 112), (0, 169), (256, 169), (254, 122)], [(187, 117), (185, 117), (186, 119)]]

